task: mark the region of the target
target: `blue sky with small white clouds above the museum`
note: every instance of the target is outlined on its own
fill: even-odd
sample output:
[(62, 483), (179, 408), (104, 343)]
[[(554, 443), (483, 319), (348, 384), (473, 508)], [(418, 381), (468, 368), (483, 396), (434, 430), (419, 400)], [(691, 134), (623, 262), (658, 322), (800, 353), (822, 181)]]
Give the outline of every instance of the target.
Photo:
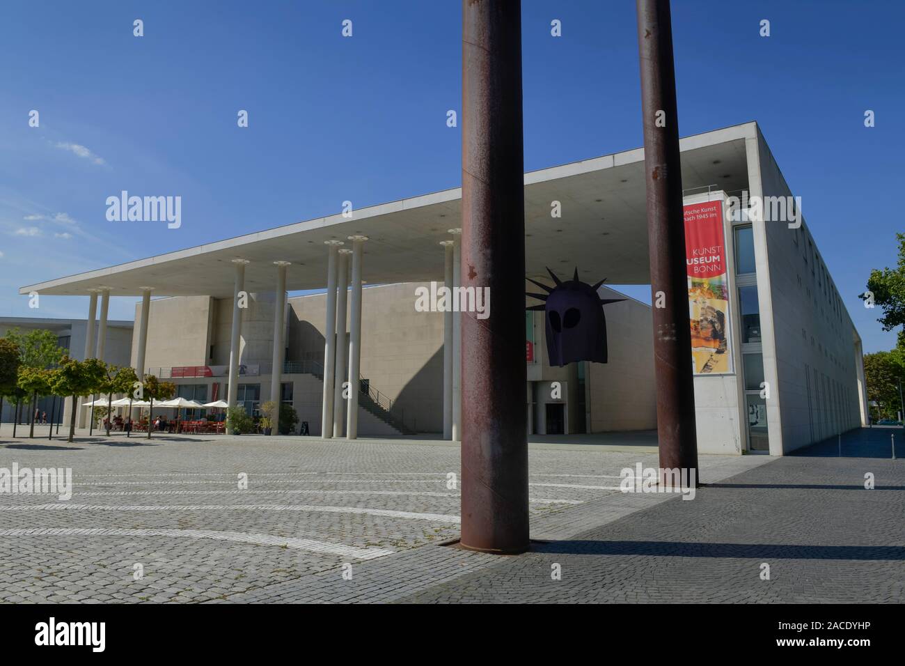
[[(857, 294), (905, 230), (905, 4), (672, 5), (681, 135), (760, 123), (864, 350), (890, 348)], [(642, 145), (634, 3), (522, 7), (525, 168)], [(21, 285), (461, 184), (456, 0), (5, 3), (0, 59), (0, 315), (36, 314)], [(108, 222), (121, 189), (181, 196), (182, 227)]]

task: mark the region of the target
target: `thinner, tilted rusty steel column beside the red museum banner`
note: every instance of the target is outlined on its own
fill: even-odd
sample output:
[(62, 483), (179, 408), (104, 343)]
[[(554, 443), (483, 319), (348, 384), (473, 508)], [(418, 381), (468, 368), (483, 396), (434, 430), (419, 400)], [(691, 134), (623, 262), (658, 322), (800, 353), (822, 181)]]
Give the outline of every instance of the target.
[[(651, 293), (653, 304), (664, 304), (653, 307), (660, 467), (694, 469), (697, 479), (698, 442), (670, 3), (637, 0), (637, 9)], [(668, 478), (661, 478), (661, 483)]]

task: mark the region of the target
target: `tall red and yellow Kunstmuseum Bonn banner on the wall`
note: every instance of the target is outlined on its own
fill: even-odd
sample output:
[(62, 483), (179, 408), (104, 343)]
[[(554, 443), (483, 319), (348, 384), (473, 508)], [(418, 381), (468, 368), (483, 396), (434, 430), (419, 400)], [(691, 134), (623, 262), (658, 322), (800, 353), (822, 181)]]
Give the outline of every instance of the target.
[(685, 265), (694, 373), (733, 372), (729, 352), (729, 275), (722, 201), (685, 209)]

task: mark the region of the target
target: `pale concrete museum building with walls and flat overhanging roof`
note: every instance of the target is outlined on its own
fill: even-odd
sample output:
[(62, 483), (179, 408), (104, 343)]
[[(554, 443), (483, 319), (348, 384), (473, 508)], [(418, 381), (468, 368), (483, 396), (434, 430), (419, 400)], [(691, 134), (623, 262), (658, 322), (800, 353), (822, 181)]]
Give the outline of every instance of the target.
[[(685, 137), (680, 148), (686, 204), (792, 195), (755, 122)], [(526, 277), (546, 279), (547, 266), (556, 266), (577, 270), (587, 283), (604, 276), (612, 284), (650, 283), (643, 158), (642, 149), (626, 150), (525, 174)], [(144, 285), (152, 285), (155, 295), (169, 298), (151, 302), (145, 369), (168, 379), (166, 373), (176, 368), (182, 375), (177, 383), (205, 384), (209, 399), (223, 398), (223, 369), (231, 345), (238, 343), (239, 391), (252, 395), (239, 400), (253, 410), (271, 399), (274, 261), (292, 262), (285, 284), (290, 292), (320, 290), (329, 282), (325, 244), (335, 250), (367, 236), (362, 276), (378, 286), (367, 287), (362, 297), (360, 375), (367, 379), (361, 395), (374, 401), (362, 404), (359, 413), (364, 420), (366, 413), (382, 415), (378, 430), (441, 432), (443, 314), (416, 312), (414, 290), (429, 281), (443, 282), (440, 244), (450, 241), (454, 220), (461, 218), (461, 197), (461, 189), (453, 188), (360, 208), (352, 215), (310, 219), (26, 285), (20, 293), (84, 295), (103, 288), (116, 296), (137, 296), (147, 292)], [(551, 213), (551, 202), (560, 204), (558, 215)], [(863, 423), (860, 338), (807, 225), (792, 229), (786, 221), (743, 206), (736, 217), (724, 219), (723, 232), (729, 301), (725, 351), (732, 366), (695, 377), (700, 452), (780, 456)], [(239, 340), (232, 333), (236, 262), (244, 266), (243, 290), (249, 298)], [(707, 298), (700, 296), (696, 304)], [(281, 381), (287, 393), (291, 384), (296, 409), (310, 414), (303, 420), (311, 434), (319, 434), (315, 412), (320, 401), (311, 381), (297, 378), (320, 381), (322, 376), (325, 300), (323, 294), (291, 298), (285, 317), (288, 372)], [(549, 367), (545, 360), (543, 317), (535, 313), (533, 320), (526, 319), (535, 351), (525, 394), (529, 431), (653, 429), (650, 308), (628, 301), (607, 305), (605, 315), (609, 362), (564, 368)], [(355, 317), (347, 315), (347, 320)], [(348, 342), (341, 336), (337, 349), (344, 352)], [(202, 366), (205, 376), (186, 377), (186, 366)], [(337, 381), (338, 386), (344, 381), (341, 369)], [(454, 372), (452, 381), (454, 386)], [(346, 401), (338, 404), (342, 409)], [(332, 416), (334, 427), (343, 422), (341, 414)], [(361, 434), (379, 433), (369, 433), (363, 424)]]

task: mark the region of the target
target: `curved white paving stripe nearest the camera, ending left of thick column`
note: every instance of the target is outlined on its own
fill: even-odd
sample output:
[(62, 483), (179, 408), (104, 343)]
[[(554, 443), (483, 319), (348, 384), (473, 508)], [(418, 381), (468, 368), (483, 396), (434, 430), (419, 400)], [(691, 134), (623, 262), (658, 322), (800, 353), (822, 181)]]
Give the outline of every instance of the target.
[(198, 539), (234, 541), (243, 544), (279, 545), (312, 553), (342, 555), (359, 560), (373, 560), (395, 551), (367, 546), (329, 544), (325, 541), (291, 536), (243, 534), (241, 532), (216, 532), (206, 529), (122, 529), (118, 527), (23, 527), (0, 530), (0, 536), (189, 536)]

